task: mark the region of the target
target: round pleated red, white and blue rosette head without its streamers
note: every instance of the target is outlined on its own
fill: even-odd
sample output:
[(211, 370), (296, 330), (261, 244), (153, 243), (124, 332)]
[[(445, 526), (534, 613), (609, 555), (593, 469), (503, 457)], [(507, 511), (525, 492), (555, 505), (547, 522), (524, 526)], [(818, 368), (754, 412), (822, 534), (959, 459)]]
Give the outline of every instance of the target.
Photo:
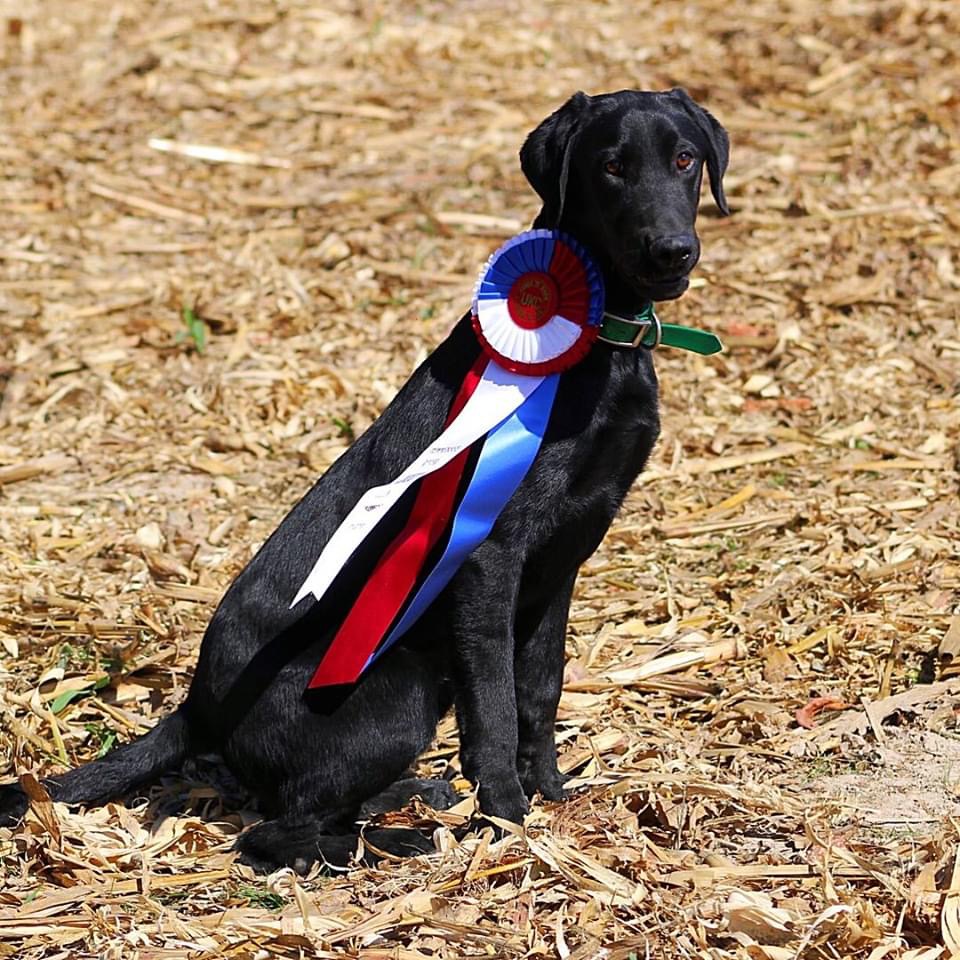
[(473, 327), (500, 366), (559, 373), (586, 356), (603, 320), (603, 278), (586, 250), (557, 230), (511, 237), (487, 262)]

